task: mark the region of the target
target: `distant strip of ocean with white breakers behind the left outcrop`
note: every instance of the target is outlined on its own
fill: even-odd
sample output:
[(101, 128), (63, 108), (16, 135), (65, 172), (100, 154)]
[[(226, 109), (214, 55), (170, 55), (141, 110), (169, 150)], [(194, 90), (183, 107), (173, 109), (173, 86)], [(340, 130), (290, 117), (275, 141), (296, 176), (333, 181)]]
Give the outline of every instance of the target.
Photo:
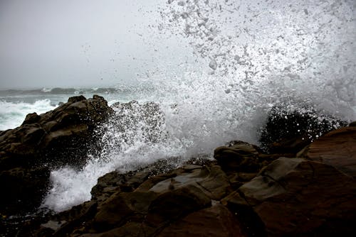
[(105, 97), (108, 104), (113, 104), (117, 101), (150, 99), (149, 90), (144, 89), (144, 91), (139, 91), (137, 88), (117, 89), (110, 87), (0, 90), (0, 131), (20, 126), (27, 114), (33, 112), (42, 114), (56, 109), (59, 104), (66, 103), (69, 97), (83, 95), (90, 98), (94, 94), (98, 94)]

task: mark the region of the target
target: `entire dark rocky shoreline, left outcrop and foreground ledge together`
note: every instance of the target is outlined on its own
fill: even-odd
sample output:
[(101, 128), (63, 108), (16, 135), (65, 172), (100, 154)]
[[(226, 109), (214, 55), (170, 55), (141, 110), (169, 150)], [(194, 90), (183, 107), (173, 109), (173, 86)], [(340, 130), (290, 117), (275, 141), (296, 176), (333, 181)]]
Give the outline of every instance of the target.
[(125, 174), (113, 171), (98, 179), (88, 202), (57, 214), (14, 218), (41, 204), (51, 185), (51, 168), (80, 166), (88, 148), (100, 149), (96, 128), (113, 113), (103, 97), (72, 97), (0, 133), (2, 236), (356, 233), (355, 122), (340, 122), (342, 128), (330, 132), (315, 127), (315, 134), (323, 136), (313, 142), (303, 136), (278, 137), (264, 143), (268, 153), (236, 140), (216, 148), (214, 160), (192, 158), (179, 168), (159, 160)]

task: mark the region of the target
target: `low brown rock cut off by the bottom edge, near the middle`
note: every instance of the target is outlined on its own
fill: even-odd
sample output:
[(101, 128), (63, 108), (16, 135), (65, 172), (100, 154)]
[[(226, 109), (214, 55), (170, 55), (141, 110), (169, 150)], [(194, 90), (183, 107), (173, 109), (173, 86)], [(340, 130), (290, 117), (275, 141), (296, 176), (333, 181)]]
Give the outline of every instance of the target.
[(174, 222), (157, 236), (248, 236), (233, 214), (221, 204), (216, 204), (185, 216)]

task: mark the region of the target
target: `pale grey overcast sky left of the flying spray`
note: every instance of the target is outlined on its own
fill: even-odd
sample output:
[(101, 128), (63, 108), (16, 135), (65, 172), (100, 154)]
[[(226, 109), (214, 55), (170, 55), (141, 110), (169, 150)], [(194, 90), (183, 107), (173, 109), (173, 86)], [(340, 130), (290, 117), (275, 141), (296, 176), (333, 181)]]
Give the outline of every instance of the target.
[(179, 63), (184, 43), (157, 36), (165, 2), (0, 0), (0, 89), (115, 85), (172, 52)]

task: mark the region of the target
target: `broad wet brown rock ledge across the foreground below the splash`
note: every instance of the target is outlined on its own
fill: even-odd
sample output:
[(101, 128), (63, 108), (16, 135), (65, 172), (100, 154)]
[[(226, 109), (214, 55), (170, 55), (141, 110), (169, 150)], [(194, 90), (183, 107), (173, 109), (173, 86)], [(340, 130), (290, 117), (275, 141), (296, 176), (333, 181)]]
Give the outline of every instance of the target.
[[(214, 150), (215, 160), (192, 158), (174, 169), (158, 160), (125, 174), (110, 172), (98, 179), (90, 201), (32, 216), (11, 233), (355, 236), (355, 147), (355, 126), (326, 133), (300, 152), (265, 153), (231, 141)], [(6, 216), (1, 221), (9, 223)]]

